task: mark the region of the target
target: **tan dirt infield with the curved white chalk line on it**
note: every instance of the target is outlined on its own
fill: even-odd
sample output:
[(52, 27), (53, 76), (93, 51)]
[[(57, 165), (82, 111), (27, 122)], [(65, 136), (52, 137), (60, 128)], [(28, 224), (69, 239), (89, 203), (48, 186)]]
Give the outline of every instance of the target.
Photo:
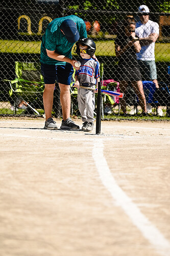
[(43, 126), (0, 119), (0, 255), (170, 255), (170, 123)]

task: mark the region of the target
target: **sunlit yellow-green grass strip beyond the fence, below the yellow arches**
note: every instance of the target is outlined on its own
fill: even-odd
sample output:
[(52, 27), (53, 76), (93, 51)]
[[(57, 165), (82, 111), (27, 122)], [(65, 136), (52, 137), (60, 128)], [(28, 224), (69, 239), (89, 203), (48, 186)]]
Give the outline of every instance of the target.
[[(2, 53), (40, 54), (41, 41), (0, 40)], [(74, 54), (74, 53), (72, 53)], [(96, 41), (96, 56), (115, 56), (114, 40)], [(156, 61), (170, 61), (170, 43), (157, 42), (155, 45)]]

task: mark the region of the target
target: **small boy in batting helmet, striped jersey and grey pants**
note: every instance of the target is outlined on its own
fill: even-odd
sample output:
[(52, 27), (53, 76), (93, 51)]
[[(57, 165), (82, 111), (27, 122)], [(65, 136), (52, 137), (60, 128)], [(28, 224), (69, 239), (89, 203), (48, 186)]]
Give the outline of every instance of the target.
[(100, 81), (99, 62), (95, 61), (92, 56), (95, 53), (95, 43), (90, 38), (83, 38), (77, 43), (76, 52), (80, 53), (81, 66), (76, 70), (75, 87), (78, 88), (78, 105), (81, 113), (83, 126), (82, 131), (90, 132), (93, 130), (94, 109), (95, 109), (95, 92), (92, 90), (81, 88), (80, 86), (98, 89)]

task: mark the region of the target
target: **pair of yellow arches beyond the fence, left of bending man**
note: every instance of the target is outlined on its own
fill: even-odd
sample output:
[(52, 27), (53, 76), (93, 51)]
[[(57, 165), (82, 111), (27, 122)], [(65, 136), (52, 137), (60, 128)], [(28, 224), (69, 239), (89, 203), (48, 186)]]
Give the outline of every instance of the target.
[[(27, 31), (28, 31), (28, 32), (19, 32), (19, 29), (20, 29), (20, 20), (21, 20), (22, 18), (27, 20)], [(17, 22), (18, 22), (18, 33), (21, 34), (21, 35), (42, 35), (42, 23), (43, 23), (43, 20), (44, 20), (44, 19), (45, 19), (45, 20), (48, 20), (49, 23), (52, 22), (52, 20), (53, 20), (51, 17), (48, 17), (48, 16), (44, 16), (44, 17), (40, 18), (39, 23), (38, 23), (38, 33), (33, 33), (33, 32), (31, 31), (31, 19), (30, 19), (30, 17), (27, 16), (27, 15), (21, 15), (21, 16), (19, 16), (19, 17), (18, 17), (18, 20), (17, 20)]]

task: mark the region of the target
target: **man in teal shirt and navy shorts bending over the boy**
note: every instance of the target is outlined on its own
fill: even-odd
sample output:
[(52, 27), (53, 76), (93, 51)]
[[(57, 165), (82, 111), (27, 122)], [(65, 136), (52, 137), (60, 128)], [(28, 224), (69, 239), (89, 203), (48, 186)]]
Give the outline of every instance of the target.
[(41, 42), (41, 73), (44, 77), (45, 89), (43, 104), (45, 111), (44, 129), (57, 130), (52, 118), (53, 94), (56, 80), (60, 87), (60, 102), (63, 120), (61, 129), (79, 129), (70, 119), (69, 85), (76, 60), (71, 57), (71, 49), (79, 39), (86, 38), (86, 25), (83, 19), (70, 15), (56, 18), (48, 24)]

